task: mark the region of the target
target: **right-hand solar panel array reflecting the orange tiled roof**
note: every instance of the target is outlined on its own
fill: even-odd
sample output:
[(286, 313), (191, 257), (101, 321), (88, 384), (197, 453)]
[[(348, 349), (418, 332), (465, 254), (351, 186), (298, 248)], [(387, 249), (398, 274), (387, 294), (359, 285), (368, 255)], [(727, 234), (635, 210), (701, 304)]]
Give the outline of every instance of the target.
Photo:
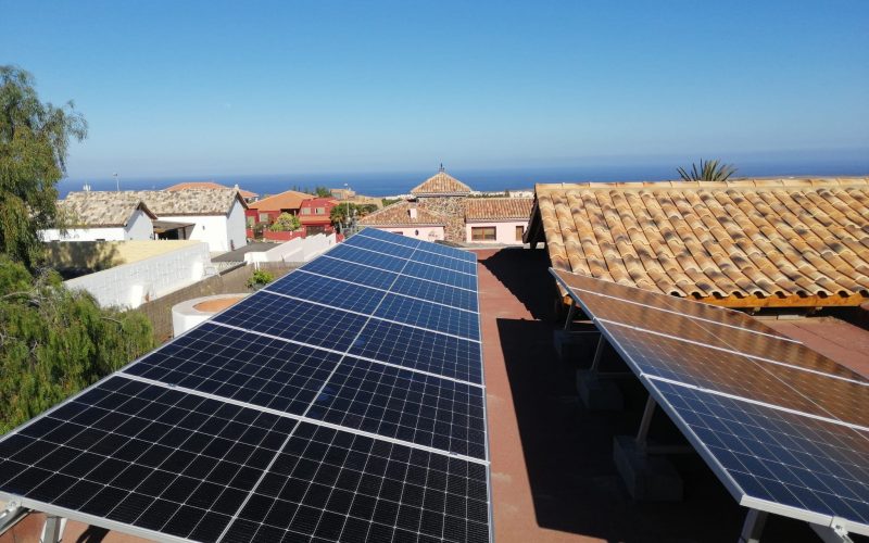
[(551, 272), (741, 505), (869, 534), (869, 380), (742, 313)]

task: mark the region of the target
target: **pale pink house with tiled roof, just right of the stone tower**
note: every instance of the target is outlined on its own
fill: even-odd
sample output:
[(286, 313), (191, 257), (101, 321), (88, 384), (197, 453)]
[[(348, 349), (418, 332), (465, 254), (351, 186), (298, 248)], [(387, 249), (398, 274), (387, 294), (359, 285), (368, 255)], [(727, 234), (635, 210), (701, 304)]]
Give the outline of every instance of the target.
[(468, 198), (465, 200), (465, 240), (471, 243), (522, 242), (531, 198)]

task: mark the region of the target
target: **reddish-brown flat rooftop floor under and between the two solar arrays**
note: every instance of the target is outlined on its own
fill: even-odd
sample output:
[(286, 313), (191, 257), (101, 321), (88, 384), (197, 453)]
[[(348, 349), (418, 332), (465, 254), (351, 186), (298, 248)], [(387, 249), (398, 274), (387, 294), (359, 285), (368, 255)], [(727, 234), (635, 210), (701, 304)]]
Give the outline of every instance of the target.
[[(545, 251), (475, 252), (495, 541), (736, 541), (747, 509), (696, 454), (671, 458), (684, 481), (682, 502), (631, 500), (613, 462), (613, 438), (635, 434), (644, 389), (637, 380), (620, 383), (626, 409), (618, 413), (589, 412), (577, 401), (576, 366), (561, 362), (553, 344), (561, 324), (553, 319), (556, 290)], [(765, 324), (869, 375), (869, 331), (831, 318)], [(676, 431), (671, 427), (658, 411), (651, 434)], [(37, 539), (42, 519), (30, 515), (0, 543)], [(64, 535), (65, 541), (141, 541), (72, 521)], [(770, 515), (761, 541), (820, 540), (805, 522)]]

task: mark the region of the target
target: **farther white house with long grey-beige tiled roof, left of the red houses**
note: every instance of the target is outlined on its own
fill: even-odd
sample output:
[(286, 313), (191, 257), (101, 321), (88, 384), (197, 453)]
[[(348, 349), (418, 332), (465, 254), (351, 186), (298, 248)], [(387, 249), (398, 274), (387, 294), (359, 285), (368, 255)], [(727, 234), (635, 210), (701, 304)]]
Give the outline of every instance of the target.
[(160, 222), (181, 225), (187, 232), (187, 239), (209, 243), (212, 252), (231, 251), (247, 243), (244, 210), (248, 204), (236, 189), (70, 192), (64, 205), (112, 198), (143, 202)]

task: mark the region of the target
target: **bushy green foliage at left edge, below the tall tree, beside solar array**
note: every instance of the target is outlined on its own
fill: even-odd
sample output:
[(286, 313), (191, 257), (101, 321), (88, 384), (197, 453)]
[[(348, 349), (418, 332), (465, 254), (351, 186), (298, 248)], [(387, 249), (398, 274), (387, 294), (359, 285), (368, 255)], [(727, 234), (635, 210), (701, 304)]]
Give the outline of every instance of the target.
[(60, 276), (36, 277), (0, 255), (0, 433), (48, 409), (153, 346), (136, 311), (101, 308)]

